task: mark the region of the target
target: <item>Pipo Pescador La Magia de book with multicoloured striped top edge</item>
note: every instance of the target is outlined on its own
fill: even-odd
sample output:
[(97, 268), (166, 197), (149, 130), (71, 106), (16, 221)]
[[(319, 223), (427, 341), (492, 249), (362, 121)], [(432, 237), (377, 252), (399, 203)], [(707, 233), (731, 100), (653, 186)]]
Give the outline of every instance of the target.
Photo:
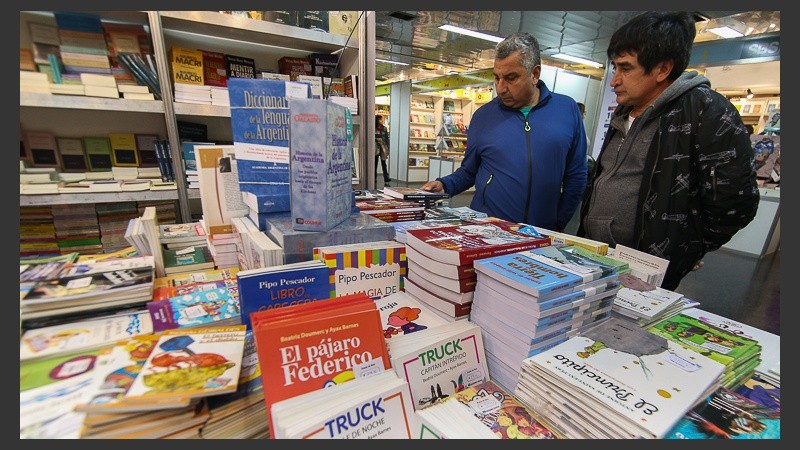
[(377, 300), (403, 290), (408, 268), (405, 245), (375, 241), (314, 248), (329, 269), (331, 297), (363, 292)]

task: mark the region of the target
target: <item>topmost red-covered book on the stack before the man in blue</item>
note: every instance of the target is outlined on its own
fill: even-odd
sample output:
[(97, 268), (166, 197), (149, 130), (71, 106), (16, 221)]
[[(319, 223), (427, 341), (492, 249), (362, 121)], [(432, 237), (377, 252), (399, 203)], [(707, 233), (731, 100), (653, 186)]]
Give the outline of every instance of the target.
[(518, 227), (507, 221), (486, 221), (408, 230), (406, 245), (428, 258), (453, 265), (550, 245), (549, 238), (519, 233)]

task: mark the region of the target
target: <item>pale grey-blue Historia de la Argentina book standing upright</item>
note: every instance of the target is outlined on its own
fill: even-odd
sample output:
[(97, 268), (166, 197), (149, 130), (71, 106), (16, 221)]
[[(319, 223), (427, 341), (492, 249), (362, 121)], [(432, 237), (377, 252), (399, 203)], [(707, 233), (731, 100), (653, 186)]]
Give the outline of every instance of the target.
[(292, 223), (298, 231), (328, 231), (352, 208), (349, 113), (318, 99), (292, 99), (289, 110)]

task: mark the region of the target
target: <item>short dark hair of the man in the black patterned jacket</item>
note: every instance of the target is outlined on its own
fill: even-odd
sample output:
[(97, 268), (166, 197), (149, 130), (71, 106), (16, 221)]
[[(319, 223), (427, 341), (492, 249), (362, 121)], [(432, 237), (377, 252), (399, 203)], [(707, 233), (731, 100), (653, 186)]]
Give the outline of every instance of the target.
[(696, 34), (687, 11), (648, 11), (615, 31), (606, 53), (609, 59), (635, 54), (645, 73), (662, 61), (672, 60), (669, 79), (674, 81), (689, 65)]

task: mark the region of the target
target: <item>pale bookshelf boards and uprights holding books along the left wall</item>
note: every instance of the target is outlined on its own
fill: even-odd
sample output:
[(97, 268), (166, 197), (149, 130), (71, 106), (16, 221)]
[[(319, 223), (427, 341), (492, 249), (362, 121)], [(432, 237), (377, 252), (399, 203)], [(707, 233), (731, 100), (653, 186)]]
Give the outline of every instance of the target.
[[(278, 69), (283, 56), (307, 56), (309, 53), (341, 52), (342, 77), (360, 75), (365, 80), (359, 90), (359, 110), (367, 111), (363, 93), (374, 92), (374, 80), (363, 76), (360, 51), (368, 33), (348, 40), (347, 36), (273, 23), (215, 11), (86, 11), (109, 22), (141, 24), (150, 34), (158, 67), (163, 100), (141, 101), (56, 94), (20, 93), (20, 124), (23, 129), (51, 131), (59, 136), (107, 135), (110, 132), (156, 134), (167, 139), (172, 150), (177, 191), (144, 191), (134, 193), (25, 195), (21, 205), (71, 204), (81, 202), (123, 201), (125, 196), (136, 200), (173, 199), (178, 202), (179, 219), (191, 220), (190, 200), (198, 195), (186, 188), (177, 122), (202, 123), (208, 127), (211, 141), (231, 141), (230, 109), (226, 106), (196, 105), (174, 102), (167, 54), (173, 46), (218, 51), (253, 58), (257, 69)], [(367, 14), (364, 14), (364, 18)], [(55, 25), (52, 11), (20, 12), (20, 47), (30, 47), (28, 23)], [(362, 27), (363, 28), (363, 27)], [(269, 43), (269, 45), (265, 45)], [(369, 110), (372, 107), (370, 106)], [(361, 117), (353, 117), (354, 147), (369, 145)], [(127, 198), (127, 197), (125, 197)], [(195, 203), (196, 204), (196, 203)]]

